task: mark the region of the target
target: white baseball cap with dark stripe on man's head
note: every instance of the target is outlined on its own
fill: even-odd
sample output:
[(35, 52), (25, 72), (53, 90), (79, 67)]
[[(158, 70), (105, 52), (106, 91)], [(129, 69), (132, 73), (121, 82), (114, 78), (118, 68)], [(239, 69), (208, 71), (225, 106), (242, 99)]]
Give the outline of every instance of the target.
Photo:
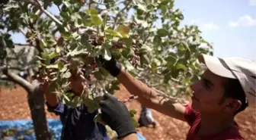
[(244, 58), (217, 58), (201, 54), (199, 61), (218, 76), (238, 79), (248, 103), (256, 103), (256, 63)]

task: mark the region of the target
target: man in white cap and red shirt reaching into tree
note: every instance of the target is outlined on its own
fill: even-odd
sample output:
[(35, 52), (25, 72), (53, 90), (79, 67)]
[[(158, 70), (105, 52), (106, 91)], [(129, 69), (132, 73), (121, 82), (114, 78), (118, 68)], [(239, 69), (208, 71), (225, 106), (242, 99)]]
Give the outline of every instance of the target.
[[(194, 93), (186, 106), (160, 98), (153, 89), (126, 73), (114, 58), (102, 62), (130, 93), (139, 96), (141, 104), (186, 121), (190, 125), (187, 139), (243, 140), (234, 117), (256, 100), (255, 62), (206, 54), (200, 55), (199, 61), (207, 69), (201, 79), (190, 86)], [(104, 122), (117, 132), (119, 138), (136, 139), (136, 129), (125, 105), (112, 95), (104, 97), (100, 103)]]

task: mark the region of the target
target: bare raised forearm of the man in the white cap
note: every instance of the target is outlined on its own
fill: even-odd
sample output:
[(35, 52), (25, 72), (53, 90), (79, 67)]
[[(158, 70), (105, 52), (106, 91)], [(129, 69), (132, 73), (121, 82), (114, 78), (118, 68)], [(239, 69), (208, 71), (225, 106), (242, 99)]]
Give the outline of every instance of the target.
[(168, 99), (158, 96), (158, 92), (146, 86), (139, 79), (135, 79), (130, 73), (121, 70), (117, 79), (126, 87), (133, 95), (139, 96), (139, 102), (150, 107), (158, 112), (174, 117), (178, 120), (184, 119), (185, 107), (180, 103), (168, 101)]

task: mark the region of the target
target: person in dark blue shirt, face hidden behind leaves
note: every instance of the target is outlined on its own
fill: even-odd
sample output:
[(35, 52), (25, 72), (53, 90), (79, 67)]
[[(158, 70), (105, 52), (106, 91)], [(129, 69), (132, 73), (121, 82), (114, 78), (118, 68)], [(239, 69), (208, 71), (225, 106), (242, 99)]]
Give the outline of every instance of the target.
[[(71, 90), (78, 96), (82, 94), (83, 87), (86, 86), (85, 80), (79, 76), (81, 74), (80, 71), (72, 74), (70, 78)], [(72, 108), (67, 104), (62, 104), (55, 94), (50, 93), (47, 83), (43, 83), (42, 88), (48, 110), (58, 115), (62, 122), (62, 140), (110, 140), (106, 128), (100, 123), (94, 123), (98, 110), (89, 113), (84, 104)]]

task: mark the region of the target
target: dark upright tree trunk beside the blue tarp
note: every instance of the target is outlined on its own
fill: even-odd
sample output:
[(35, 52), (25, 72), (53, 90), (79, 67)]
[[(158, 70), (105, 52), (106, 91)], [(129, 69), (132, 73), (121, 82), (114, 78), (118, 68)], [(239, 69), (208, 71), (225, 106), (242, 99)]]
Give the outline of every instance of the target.
[(44, 97), (42, 92), (37, 89), (39, 88), (35, 88), (33, 92), (30, 91), (27, 94), (34, 132), (37, 140), (51, 140), (51, 134), (46, 121), (46, 113), (44, 111)]

